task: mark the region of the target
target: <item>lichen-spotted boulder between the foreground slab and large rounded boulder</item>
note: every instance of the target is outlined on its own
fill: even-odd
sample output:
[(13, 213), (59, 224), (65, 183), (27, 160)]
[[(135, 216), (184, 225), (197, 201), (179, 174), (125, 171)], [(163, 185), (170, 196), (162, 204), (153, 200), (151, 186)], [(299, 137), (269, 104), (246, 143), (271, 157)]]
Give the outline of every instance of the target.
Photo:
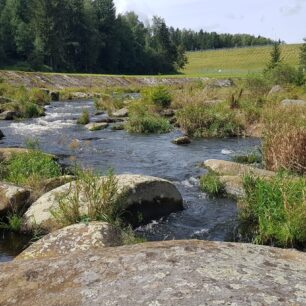
[(17, 259), (56, 257), (120, 244), (120, 231), (114, 226), (105, 222), (80, 223), (44, 236), (24, 250)]

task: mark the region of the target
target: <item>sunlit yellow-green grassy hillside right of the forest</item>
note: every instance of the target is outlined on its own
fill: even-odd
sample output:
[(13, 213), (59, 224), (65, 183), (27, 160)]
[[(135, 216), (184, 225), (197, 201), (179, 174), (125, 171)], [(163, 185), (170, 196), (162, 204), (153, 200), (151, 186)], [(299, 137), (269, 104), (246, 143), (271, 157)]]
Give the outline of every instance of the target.
[[(301, 45), (284, 45), (283, 61), (297, 65)], [(245, 76), (258, 73), (269, 61), (271, 46), (188, 52), (189, 63), (182, 71), (189, 76)]]

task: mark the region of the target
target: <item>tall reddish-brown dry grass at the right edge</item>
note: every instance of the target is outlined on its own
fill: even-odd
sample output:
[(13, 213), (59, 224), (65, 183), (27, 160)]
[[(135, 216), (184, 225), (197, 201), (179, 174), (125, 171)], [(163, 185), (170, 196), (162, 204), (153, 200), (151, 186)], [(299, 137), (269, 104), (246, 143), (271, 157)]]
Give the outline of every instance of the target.
[(306, 107), (274, 107), (264, 112), (263, 157), (266, 168), (306, 172)]

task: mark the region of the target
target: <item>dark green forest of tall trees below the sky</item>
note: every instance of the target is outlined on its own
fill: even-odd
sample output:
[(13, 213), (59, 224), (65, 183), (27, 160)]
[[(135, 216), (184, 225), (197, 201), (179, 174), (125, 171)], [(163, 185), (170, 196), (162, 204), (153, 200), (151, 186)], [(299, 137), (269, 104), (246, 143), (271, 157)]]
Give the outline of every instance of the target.
[(134, 12), (113, 0), (0, 0), (0, 67), (88, 73), (174, 73), (185, 51), (269, 44), (251, 35), (194, 32)]

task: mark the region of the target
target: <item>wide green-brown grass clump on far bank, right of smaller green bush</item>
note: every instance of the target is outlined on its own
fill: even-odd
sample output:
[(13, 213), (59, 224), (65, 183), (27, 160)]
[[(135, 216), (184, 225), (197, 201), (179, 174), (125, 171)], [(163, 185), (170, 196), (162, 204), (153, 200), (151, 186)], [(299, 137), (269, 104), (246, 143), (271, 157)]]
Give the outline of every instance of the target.
[(176, 113), (177, 122), (189, 136), (228, 137), (241, 135), (243, 127), (228, 105), (187, 105)]

